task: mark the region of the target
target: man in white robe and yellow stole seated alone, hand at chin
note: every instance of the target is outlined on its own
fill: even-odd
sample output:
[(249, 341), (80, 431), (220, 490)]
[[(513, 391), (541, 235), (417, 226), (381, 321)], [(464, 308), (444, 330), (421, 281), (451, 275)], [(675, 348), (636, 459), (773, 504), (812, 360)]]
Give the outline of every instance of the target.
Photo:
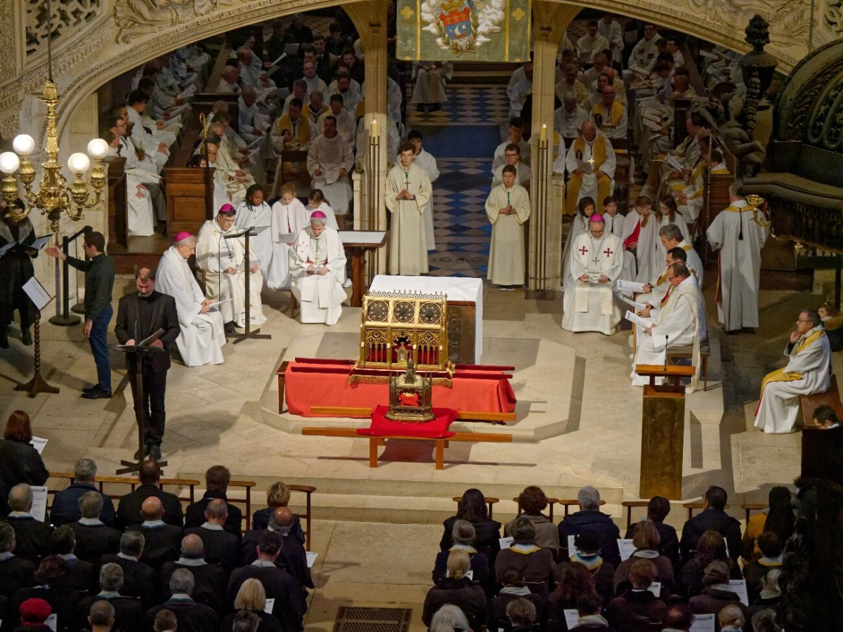
[(800, 395), (829, 389), (831, 345), (819, 314), (803, 310), (785, 347), (787, 367), (765, 375), (755, 427), (772, 434), (797, 431)]

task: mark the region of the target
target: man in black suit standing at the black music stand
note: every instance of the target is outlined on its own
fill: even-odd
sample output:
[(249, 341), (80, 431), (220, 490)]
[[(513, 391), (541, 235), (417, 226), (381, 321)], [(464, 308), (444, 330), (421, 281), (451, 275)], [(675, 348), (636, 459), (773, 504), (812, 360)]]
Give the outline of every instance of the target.
[(141, 268), (135, 273), (137, 292), (126, 294), (117, 303), (117, 323), (114, 332), (121, 345), (137, 345), (153, 335), (158, 329), (164, 334), (150, 346), (162, 351), (145, 354), (142, 366), (143, 401), (137, 394), (137, 354), (126, 354), (126, 369), (129, 383), (132, 384), (132, 399), (135, 400), (135, 414), (138, 407), (143, 415), (143, 453), (153, 461), (161, 460), (161, 441), (164, 438), (164, 393), (167, 389), (167, 369), (169, 369), (169, 348), (179, 337), (179, 314), (175, 308), (175, 298), (155, 292), (155, 275), (149, 268)]

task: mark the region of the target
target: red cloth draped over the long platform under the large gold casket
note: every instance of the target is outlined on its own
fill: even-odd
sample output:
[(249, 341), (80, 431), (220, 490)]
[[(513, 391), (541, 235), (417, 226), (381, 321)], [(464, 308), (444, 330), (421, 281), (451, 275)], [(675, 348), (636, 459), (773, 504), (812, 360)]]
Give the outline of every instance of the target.
[[(516, 399), (509, 383), (511, 375), (503, 371), (507, 368), (461, 365), (454, 372), (451, 388), (433, 385), (432, 404), (460, 411), (511, 413)], [(388, 383), (367, 383), (366, 375), (350, 383), (352, 369), (353, 362), (348, 360), (296, 358), (284, 373), (287, 408), (293, 415), (312, 417), (311, 406), (372, 410), (389, 403)], [(365, 418), (369, 413), (357, 416)]]

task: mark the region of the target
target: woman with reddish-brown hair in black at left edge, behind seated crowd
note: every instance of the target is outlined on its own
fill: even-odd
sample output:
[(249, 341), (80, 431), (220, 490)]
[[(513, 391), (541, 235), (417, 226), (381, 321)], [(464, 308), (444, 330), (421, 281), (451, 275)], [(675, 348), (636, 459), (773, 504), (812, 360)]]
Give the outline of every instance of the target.
[(3, 509), (4, 516), (8, 513), (6, 497), (15, 485), (44, 485), (50, 478), (41, 455), (30, 445), (30, 441), (30, 415), (23, 410), (13, 411), (8, 415), (3, 440), (0, 440), (0, 494), (3, 495), (0, 509)]

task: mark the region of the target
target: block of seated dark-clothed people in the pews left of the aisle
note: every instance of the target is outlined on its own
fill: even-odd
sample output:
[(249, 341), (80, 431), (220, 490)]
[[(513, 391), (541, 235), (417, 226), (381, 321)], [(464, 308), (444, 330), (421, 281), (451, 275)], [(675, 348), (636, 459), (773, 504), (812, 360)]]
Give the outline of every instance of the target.
[[(75, 476), (56, 493), (52, 525), (32, 516), (30, 485), (9, 492), (11, 511), (0, 522), (4, 631), (32, 598), (50, 603), (59, 629), (70, 631), (85, 629), (98, 598), (120, 614), (117, 629), (130, 632), (151, 629), (161, 608), (176, 613), (180, 629), (218, 629), (235, 609), (264, 609), (239, 603), (265, 598), (274, 599), (266, 629), (302, 629), (314, 584), (286, 485), (272, 485), (270, 506), (255, 512), (253, 528), (241, 536), (242, 515), (226, 500), (229, 475), (222, 466), (208, 470), (208, 490), (184, 512), (177, 496), (159, 488), (153, 461), (143, 463), (140, 485), (121, 497), (116, 511), (94, 486), (93, 461), (80, 460)], [(248, 580), (259, 585), (244, 588)], [(223, 629), (231, 629), (230, 618)]]

